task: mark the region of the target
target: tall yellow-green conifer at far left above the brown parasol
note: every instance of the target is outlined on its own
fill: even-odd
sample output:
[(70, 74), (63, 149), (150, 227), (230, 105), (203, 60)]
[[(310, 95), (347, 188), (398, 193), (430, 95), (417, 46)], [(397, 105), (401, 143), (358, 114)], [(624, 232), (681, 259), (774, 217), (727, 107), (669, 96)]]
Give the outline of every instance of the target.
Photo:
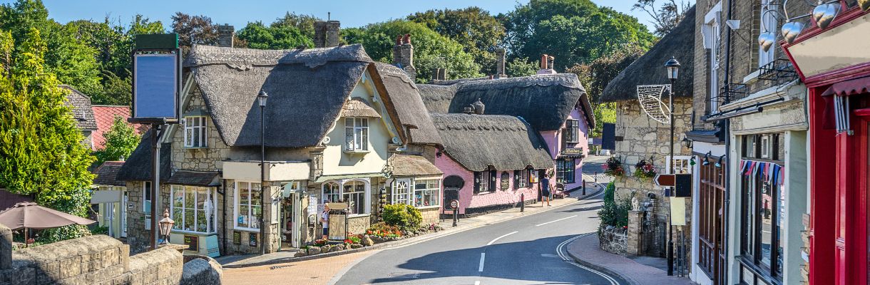
[[(40, 34), (30, 28), (14, 39), (0, 30), (0, 187), (85, 216), (93, 180), (88, 167), (94, 157), (64, 104), (60, 82), (46, 71), (47, 46)], [(83, 227), (65, 227), (43, 238), (54, 241), (82, 233)]]

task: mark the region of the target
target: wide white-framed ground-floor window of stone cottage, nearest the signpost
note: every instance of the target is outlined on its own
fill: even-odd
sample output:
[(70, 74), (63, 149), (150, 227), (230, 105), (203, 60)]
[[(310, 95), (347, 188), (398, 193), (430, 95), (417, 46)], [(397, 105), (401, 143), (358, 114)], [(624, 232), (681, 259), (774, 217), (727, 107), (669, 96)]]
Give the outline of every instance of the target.
[[(172, 227), (172, 231), (180, 232), (180, 233), (191, 233), (191, 234), (215, 234), (215, 233), (218, 233), (218, 225), (216, 224), (217, 223), (216, 220), (218, 217), (218, 207), (216, 207), (214, 205), (214, 201), (217, 200), (218, 196), (217, 196), (215, 188), (213, 188), (213, 187), (201, 187), (201, 186), (170, 185), (170, 189), (171, 189), (171, 193), (170, 193), (170, 197), (171, 197), (170, 216), (172, 217), (173, 220), (175, 220), (175, 225)], [(182, 200), (181, 200), (181, 207), (180, 208), (176, 207), (177, 201), (176, 201), (175, 195), (176, 195), (177, 191), (181, 191), (181, 193), (182, 193), (182, 196), (181, 196)], [(184, 227), (184, 223), (185, 223), (186, 219), (188, 218), (187, 215), (185, 215), (187, 213), (186, 210), (188, 210), (188, 208), (186, 207), (186, 204), (187, 204), (186, 200), (187, 200), (188, 191), (194, 191), (194, 193), (195, 193), (194, 194), (194, 208), (192, 209), (193, 215), (194, 215), (193, 216), (193, 218), (194, 218), (194, 230), (182, 229), (182, 227)], [(199, 192), (201, 192), (201, 191), (205, 192), (204, 193), (205, 194), (205, 202), (203, 204), (203, 209), (202, 209), (202, 211), (204, 211), (204, 214), (205, 214), (205, 231), (196, 230), (196, 229), (198, 229), (198, 225), (199, 225), (199, 221), (196, 220), (197, 211), (200, 210), (200, 209), (197, 209), (197, 204), (199, 201), (197, 201), (196, 199), (198, 199)], [(177, 209), (181, 211), (181, 214), (180, 214), (181, 218), (180, 219), (177, 218), (177, 215), (175, 212)], [(211, 214), (211, 215), (209, 215), (209, 214)], [(237, 220), (237, 222), (238, 222), (238, 220)], [(211, 230), (209, 230), (209, 229), (211, 229)]]

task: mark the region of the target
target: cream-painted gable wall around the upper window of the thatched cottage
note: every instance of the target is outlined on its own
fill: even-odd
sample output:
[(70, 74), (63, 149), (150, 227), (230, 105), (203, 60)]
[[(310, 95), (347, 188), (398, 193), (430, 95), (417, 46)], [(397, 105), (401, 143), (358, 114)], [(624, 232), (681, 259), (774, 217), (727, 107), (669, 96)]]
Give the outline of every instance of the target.
[[(324, 149), (324, 175), (346, 175), (378, 173), (383, 171), (390, 154), (388, 148), (392, 139), (392, 123), (383, 111), (376, 89), (372, 85), (368, 72), (357, 83), (351, 92), (351, 97), (361, 98), (378, 110), (381, 118), (369, 118), (369, 152), (365, 154), (345, 154), (345, 117), (340, 116), (332, 124), (332, 129), (326, 133), (329, 142)], [(378, 99), (373, 99), (378, 98)]]

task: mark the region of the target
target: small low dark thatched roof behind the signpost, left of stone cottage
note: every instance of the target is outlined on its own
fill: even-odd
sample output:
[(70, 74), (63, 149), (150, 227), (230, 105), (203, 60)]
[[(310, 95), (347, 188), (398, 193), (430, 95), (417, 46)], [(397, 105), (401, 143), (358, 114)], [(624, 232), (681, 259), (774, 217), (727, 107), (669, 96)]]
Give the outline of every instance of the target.
[[(124, 162), (124, 166), (117, 171), (118, 181), (151, 181), (151, 132), (149, 130), (142, 136), (142, 141), (130, 154), (130, 158)], [(165, 182), (172, 174), (171, 165), (172, 143), (164, 143), (160, 146), (160, 181)]]

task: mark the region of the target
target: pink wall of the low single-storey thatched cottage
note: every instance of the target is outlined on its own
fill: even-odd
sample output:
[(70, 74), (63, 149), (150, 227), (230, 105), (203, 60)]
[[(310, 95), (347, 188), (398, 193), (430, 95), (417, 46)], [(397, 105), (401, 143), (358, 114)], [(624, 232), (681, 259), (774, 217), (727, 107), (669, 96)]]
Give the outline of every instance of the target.
[[(465, 209), (474, 209), (495, 205), (513, 204), (519, 202), (522, 194), (525, 194), (525, 200), (538, 198), (538, 183), (532, 183), (528, 188), (513, 189), (513, 169), (506, 170), (510, 181), (509, 187), (506, 190), (497, 189), (495, 192), (481, 192), (474, 194), (474, 172), (465, 169), (461, 164), (454, 161), (447, 154), (435, 158), (435, 167), (444, 172), (444, 177), (459, 176), (465, 181), (462, 189), (459, 189), (459, 214), (465, 214)], [(496, 185), (501, 185), (501, 173), (503, 170), (496, 172)], [(443, 207), (443, 206), (442, 206)]]

